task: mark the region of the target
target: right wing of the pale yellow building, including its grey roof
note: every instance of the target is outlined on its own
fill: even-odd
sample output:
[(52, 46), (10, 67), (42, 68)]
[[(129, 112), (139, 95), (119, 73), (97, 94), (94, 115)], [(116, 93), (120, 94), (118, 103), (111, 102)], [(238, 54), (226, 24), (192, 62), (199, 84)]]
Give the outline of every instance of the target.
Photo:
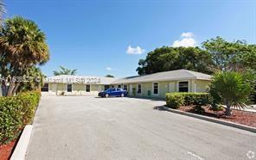
[(163, 71), (145, 76), (125, 77), (112, 83), (128, 90), (128, 95), (165, 98), (168, 92), (206, 92), (211, 76), (195, 71)]

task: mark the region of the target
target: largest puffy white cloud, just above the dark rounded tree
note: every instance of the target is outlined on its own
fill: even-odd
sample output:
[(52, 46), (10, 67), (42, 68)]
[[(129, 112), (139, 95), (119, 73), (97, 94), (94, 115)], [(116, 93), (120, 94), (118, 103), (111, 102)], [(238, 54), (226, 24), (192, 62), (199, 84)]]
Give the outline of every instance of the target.
[(182, 33), (181, 40), (175, 40), (172, 44), (173, 47), (189, 47), (189, 46), (196, 46), (196, 40), (194, 39), (194, 34), (191, 32)]

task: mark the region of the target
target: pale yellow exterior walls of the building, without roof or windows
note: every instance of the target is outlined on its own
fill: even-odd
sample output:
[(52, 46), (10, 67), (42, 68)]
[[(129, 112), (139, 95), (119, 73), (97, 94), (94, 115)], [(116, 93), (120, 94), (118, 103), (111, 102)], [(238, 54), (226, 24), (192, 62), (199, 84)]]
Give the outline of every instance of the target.
[[(149, 98), (165, 98), (165, 94), (168, 92), (178, 92), (179, 82), (182, 81), (166, 81), (166, 82), (154, 82), (158, 83), (158, 94), (153, 95), (153, 82), (140, 83), (141, 94), (138, 94), (138, 83), (125, 83), (127, 85), (128, 95), (137, 97), (149, 97)], [(208, 88), (210, 81), (207, 80), (187, 80), (189, 81), (189, 92), (205, 92)], [(105, 85), (103, 84), (91, 84), (90, 92), (86, 92), (86, 84), (73, 83), (72, 92), (67, 92), (67, 83), (49, 83), (48, 92), (42, 92), (48, 95), (98, 95), (98, 93), (104, 90)], [(110, 84), (112, 87), (112, 84)], [(113, 85), (114, 88), (118, 87), (118, 84)], [(122, 84), (121, 87), (124, 87)], [(135, 92), (133, 91), (135, 89)], [(150, 92), (150, 95), (148, 94)]]

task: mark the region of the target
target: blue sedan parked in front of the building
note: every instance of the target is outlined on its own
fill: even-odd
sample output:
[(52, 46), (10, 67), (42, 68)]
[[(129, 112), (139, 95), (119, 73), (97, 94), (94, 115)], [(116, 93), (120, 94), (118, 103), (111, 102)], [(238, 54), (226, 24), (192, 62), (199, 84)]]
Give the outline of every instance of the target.
[(128, 92), (124, 89), (120, 88), (113, 88), (113, 89), (106, 89), (105, 91), (99, 92), (98, 94), (101, 97), (109, 97), (109, 96), (126, 96)]

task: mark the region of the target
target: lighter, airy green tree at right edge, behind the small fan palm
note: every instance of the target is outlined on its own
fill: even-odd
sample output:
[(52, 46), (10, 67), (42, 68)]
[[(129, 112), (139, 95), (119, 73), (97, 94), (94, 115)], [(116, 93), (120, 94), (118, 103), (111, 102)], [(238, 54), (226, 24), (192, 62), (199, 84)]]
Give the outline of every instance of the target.
[(211, 54), (214, 66), (219, 71), (256, 70), (256, 46), (246, 44), (245, 40), (228, 42), (218, 36), (204, 41), (202, 47)]

